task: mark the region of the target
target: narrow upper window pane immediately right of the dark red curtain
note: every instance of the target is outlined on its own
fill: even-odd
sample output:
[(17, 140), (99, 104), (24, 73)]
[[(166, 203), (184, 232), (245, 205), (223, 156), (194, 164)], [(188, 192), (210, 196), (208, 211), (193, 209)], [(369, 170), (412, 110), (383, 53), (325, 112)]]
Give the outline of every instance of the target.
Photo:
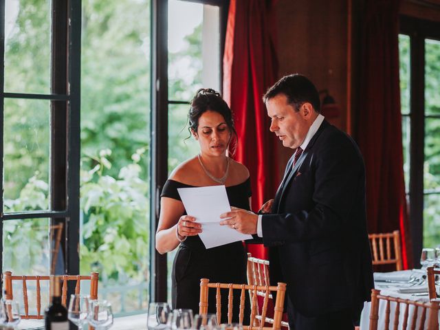
[(410, 37), (399, 34), (399, 75), (401, 113), (410, 113)]

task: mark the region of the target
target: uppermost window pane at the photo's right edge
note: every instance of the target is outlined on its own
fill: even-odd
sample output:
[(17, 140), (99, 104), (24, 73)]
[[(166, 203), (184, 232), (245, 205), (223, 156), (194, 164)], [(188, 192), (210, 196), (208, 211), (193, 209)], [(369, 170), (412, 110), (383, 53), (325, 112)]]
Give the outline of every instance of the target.
[(425, 113), (440, 115), (440, 41), (425, 40)]

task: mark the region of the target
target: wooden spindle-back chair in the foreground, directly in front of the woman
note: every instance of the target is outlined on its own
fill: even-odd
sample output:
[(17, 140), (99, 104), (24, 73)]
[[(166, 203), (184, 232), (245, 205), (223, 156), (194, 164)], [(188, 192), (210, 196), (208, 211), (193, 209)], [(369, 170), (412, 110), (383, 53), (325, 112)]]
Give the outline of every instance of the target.
[[(228, 289), (228, 323), (232, 323), (232, 298), (234, 290), (241, 290), (240, 296), (240, 312), (239, 312), (239, 322), (243, 325), (244, 309), (245, 309), (245, 294), (247, 290), (252, 290), (252, 301), (251, 301), (251, 312), (250, 312), (250, 322), (246, 329), (273, 329), (281, 330), (281, 318), (283, 318), (283, 307), (284, 298), (286, 293), (286, 284), (278, 283), (278, 286), (260, 286), (260, 285), (247, 285), (247, 284), (227, 284), (227, 283), (209, 283), (208, 278), (201, 278), (200, 280), (200, 303), (199, 303), (199, 314), (208, 313), (208, 291), (209, 289), (216, 290), (216, 307), (217, 307), (217, 320), (221, 320), (221, 289)], [(259, 322), (256, 319), (258, 312), (256, 305), (257, 292), (264, 292), (263, 300), (263, 311), (261, 317), (264, 319), (267, 311), (267, 303), (269, 301), (270, 292), (276, 292), (276, 301), (274, 308), (274, 323), (272, 327), (264, 327), (263, 322)]]

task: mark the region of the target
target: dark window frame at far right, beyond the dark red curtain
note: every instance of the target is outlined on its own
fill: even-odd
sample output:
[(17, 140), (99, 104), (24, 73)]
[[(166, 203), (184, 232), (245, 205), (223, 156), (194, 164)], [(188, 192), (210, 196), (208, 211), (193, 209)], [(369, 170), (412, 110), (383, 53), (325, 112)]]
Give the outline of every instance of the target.
[[(410, 148), (409, 148), (409, 216), (412, 238), (412, 255), (419, 265), (423, 248), (423, 199), (428, 194), (423, 189), (423, 162), (425, 158), (425, 39), (440, 40), (440, 23), (402, 15), (400, 34), (410, 37)], [(440, 118), (440, 116), (435, 116)]]

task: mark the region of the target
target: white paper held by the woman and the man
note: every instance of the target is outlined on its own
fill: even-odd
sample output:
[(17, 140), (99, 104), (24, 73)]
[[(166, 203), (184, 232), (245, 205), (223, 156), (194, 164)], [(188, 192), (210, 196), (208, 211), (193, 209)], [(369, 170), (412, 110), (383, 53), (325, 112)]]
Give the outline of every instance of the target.
[(201, 223), (203, 232), (199, 236), (207, 249), (252, 239), (252, 235), (241, 234), (227, 225), (220, 225), (220, 214), (231, 210), (225, 186), (178, 188), (177, 191), (186, 214)]

